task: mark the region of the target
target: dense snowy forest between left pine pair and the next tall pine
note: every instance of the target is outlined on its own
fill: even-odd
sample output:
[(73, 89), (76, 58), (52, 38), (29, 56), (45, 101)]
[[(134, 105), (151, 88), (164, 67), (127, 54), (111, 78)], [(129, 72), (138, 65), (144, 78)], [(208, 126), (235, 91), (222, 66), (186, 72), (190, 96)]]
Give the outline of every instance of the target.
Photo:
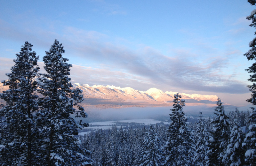
[(113, 126), (80, 136), (82, 146), (92, 151), (94, 166), (154, 166), (165, 161), (162, 145), (165, 125), (129, 127)]

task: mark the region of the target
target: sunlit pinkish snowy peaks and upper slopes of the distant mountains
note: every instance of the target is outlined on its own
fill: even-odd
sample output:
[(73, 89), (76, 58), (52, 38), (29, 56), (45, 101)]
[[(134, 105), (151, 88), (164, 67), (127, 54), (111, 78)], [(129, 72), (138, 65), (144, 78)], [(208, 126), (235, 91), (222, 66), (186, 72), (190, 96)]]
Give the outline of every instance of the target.
[[(73, 84), (74, 87), (79, 87), (83, 90), (84, 98), (94, 99), (108, 99), (118, 100), (123, 102), (153, 102), (158, 104), (172, 103), (173, 95), (177, 92), (163, 92), (157, 88), (150, 88), (147, 91), (135, 90), (131, 87), (115, 87), (115, 86), (102, 86), (88, 84)], [(201, 95), (201, 94), (185, 94), (181, 93), (183, 99), (187, 99), (189, 102), (215, 103), (218, 99), (216, 95)]]

